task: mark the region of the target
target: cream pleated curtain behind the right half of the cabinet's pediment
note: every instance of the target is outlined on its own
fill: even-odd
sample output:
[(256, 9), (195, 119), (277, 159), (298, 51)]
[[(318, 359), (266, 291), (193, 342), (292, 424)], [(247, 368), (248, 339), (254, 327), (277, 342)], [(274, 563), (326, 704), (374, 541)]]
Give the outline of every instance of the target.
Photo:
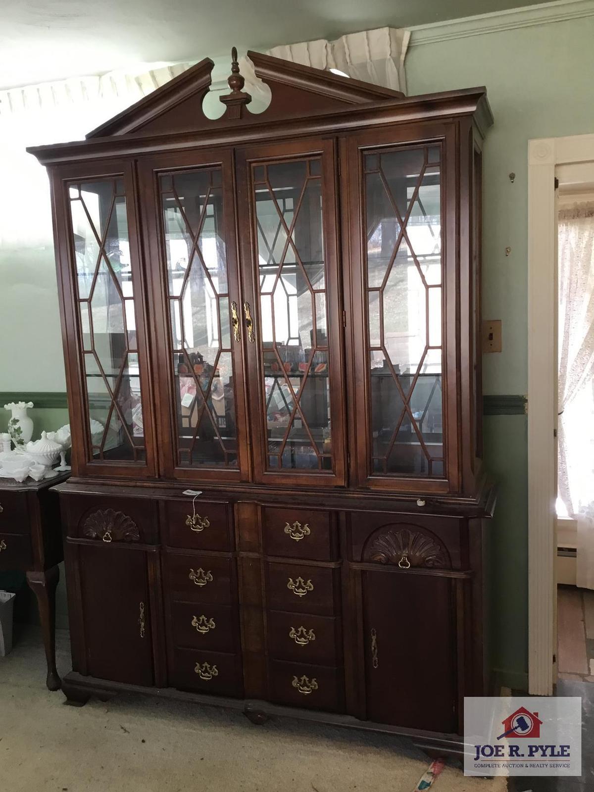
[[(315, 39), (282, 44), (265, 54), (316, 69), (338, 69), (348, 77), (406, 93), (404, 59), (409, 39), (409, 30), (378, 28), (348, 33), (333, 41)], [(265, 109), (270, 101), (268, 86), (253, 73), (249, 59), (240, 59), (240, 70), (246, 78), (246, 90), (253, 97), (254, 106), (249, 108)]]

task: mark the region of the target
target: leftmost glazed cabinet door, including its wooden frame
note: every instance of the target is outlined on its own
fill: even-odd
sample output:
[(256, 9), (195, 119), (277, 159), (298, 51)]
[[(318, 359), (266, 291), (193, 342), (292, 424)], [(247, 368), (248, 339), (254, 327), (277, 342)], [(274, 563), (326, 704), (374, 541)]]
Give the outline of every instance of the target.
[(74, 474), (154, 475), (135, 179), (126, 161), (53, 173)]

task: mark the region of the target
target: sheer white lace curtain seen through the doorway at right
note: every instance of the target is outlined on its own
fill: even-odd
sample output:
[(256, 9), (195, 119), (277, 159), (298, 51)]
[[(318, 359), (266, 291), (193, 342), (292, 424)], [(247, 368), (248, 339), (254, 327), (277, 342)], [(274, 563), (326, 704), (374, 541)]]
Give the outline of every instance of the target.
[(559, 212), (558, 489), (577, 518), (577, 585), (594, 588), (594, 204)]

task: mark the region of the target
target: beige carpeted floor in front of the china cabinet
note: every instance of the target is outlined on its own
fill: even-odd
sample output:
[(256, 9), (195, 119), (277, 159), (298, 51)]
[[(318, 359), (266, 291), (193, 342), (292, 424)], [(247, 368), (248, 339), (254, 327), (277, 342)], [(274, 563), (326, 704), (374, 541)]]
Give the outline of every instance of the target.
[[(59, 634), (59, 669), (69, 667)], [(0, 658), (2, 792), (413, 792), (430, 760), (384, 735), (129, 695), (78, 709), (44, 687), (40, 635)], [(448, 766), (431, 792), (503, 792)]]

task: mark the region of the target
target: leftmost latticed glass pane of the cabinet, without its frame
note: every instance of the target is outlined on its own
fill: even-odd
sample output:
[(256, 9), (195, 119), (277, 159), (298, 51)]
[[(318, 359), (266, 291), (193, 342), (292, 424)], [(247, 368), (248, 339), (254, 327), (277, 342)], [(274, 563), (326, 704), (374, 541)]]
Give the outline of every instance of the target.
[(143, 462), (143, 409), (121, 179), (69, 186), (93, 459)]

